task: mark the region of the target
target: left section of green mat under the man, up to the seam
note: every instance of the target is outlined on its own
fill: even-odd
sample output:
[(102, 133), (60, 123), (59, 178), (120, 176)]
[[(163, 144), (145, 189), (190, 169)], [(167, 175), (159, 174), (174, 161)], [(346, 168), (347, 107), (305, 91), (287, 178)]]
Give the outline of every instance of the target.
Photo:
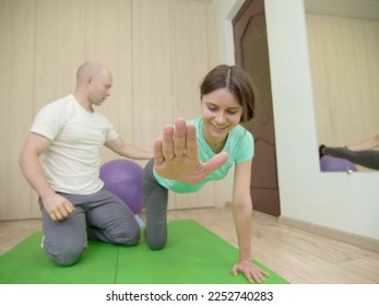
[(90, 242), (82, 260), (58, 267), (40, 248), (36, 232), (0, 257), (0, 284), (111, 284), (115, 282), (118, 250), (115, 245)]

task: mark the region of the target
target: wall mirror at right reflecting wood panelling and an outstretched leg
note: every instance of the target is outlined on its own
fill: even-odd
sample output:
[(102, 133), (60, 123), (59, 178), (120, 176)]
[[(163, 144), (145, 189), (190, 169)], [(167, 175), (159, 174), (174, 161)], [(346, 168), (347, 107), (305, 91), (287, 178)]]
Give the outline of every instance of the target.
[(379, 1), (305, 8), (321, 170), (378, 170)]

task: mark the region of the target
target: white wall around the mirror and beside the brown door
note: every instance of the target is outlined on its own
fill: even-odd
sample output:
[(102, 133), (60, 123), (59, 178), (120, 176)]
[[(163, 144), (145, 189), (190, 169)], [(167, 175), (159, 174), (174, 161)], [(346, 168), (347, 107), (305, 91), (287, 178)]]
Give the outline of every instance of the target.
[[(240, 4), (215, 0), (218, 24), (233, 17), (225, 8), (232, 12)], [(264, 5), (282, 216), (379, 239), (379, 173), (319, 170), (304, 0)], [(225, 25), (220, 33), (233, 47)]]

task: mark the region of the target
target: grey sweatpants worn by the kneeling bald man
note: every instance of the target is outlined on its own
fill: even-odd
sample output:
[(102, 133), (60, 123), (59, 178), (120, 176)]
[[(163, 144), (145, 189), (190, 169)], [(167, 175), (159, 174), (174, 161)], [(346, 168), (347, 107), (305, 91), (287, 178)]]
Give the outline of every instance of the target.
[(39, 199), (45, 235), (43, 247), (58, 264), (78, 262), (87, 247), (87, 238), (125, 246), (139, 243), (140, 226), (133, 212), (106, 188), (88, 196), (59, 195), (75, 207), (75, 213), (64, 221), (52, 221)]

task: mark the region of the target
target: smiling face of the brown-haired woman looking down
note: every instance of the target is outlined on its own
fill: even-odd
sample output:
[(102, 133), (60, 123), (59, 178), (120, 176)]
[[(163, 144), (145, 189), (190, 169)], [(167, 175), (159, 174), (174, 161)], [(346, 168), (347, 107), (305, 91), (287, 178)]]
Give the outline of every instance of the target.
[(223, 142), (227, 133), (236, 127), (242, 116), (242, 106), (227, 90), (218, 89), (201, 98), (204, 138), (210, 142)]

